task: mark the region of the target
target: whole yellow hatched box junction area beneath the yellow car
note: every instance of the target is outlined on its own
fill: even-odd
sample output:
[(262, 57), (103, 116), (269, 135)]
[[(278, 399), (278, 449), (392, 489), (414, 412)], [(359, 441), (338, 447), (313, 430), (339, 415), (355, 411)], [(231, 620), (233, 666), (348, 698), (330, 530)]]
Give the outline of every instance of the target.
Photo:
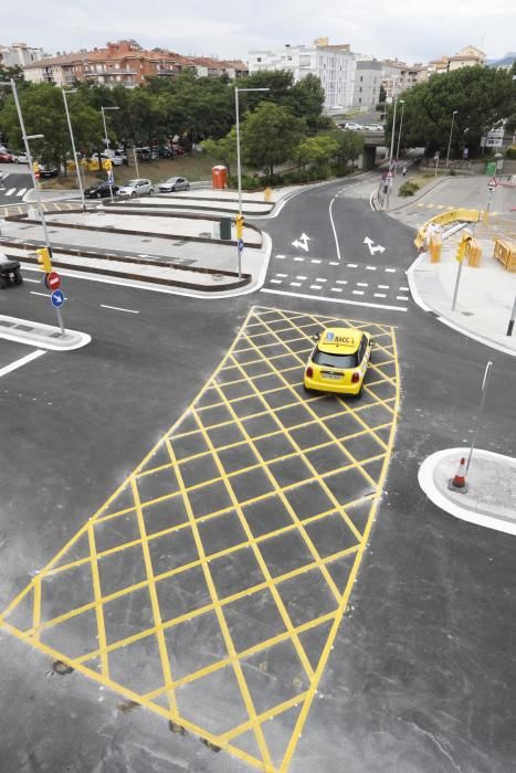
[[(331, 403), (324, 395), (305, 398), (302, 392), (303, 368), (313, 347), (312, 333), (325, 325), (335, 322), (368, 330), (375, 338), (376, 347), (365, 383), (366, 399), (362, 403), (351, 403), (339, 396), (334, 396)], [(281, 353), (277, 353), (278, 351)], [(327, 315), (316, 316), (271, 307), (251, 309), (228, 353), (189, 409), (103, 507), (11, 602), (0, 618), (0, 624), (14, 636), (51, 657), (70, 664), (98, 684), (108, 686), (160, 717), (173, 720), (253, 767), (262, 771), (286, 771), (345, 614), (369, 538), (392, 452), (398, 409), (398, 353), (391, 326), (364, 321), (354, 324)], [(294, 412), (294, 421), (291, 424), (286, 421), (285, 411)], [(344, 425), (339, 423), (340, 420), (344, 421)], [(310, 432), (314, 432), (313, 438)], [(304, 433), (303, 442), (298, 433)], [(277, 445), (270, 445), (273, 443)], [(331, 456), (334, 451), (336, 453)], [(164, 458), (164, 452), (167, 458)], [(330, 459), (328, 466), (318, 468), (315, 459), (324, 459), (326, 454), (329, 454), (327, 458)], [(233, 463), (230, 464), (231, 458), (238, 458), (241, 466), (236, 464), (234, 467)], [(288, 475), (286, 478), (278, 477), (276, 470), (281, 472), (281, 465), (295, 464), (297, 460), (303, 465), (297, 467), (298, 472), (305, 470), (307, 477), (298, 474), (292, 478)], [(204, 468), (204, 474), (200, 475)], [(371, 474), (377, 468), (380, 472)], [(334, 490), (333, 487), (337, 476), (351, 473), (358, 474), (358, 479), (362, 479), (367, 490), (354, 484), (355, 489), (346, 488), (346, 496), (343, 493), (337, 495), (338, 488)], [(254, 478), (255, 483), (252, 484), (253, 478), (245, 477), (259, 474), (264, 476), (266, 484), (260, 484), (260, 478)], [(164, 494), (156, 488), (155, 480), (169, 481), (169, 490)], [(213, 487), (220, 487), (220, 490), (225, 493), (227, 501), (223, 498), (210, 498), (213, 496), (211, 493), (218, 490)], [(306, 491), (309, 490), (320, 491), (325, 504), (323, 499), (317, 499), (317, 508), (302, 511), (299, 496), (306, 499)], [(130, 495), (129, 502), (127, 494)], [(299, 504), (294, 505), (295, 501)], [(267, 502), (273, 502), (273, 508), (283, 508), (284, 518), (287, 520), (264, 520), (266, 510), (263, 508)], [(156, 508), (157, 511), (165, 508), (167, 512), (180, 508), (177, 510), (179, 520), (172, 523), (158, 520), (152, 523), (150, 519)], [(255, 525), (250, 520), (250, 508), (255, 508), (254, 518), (260, 515), (263, 533), (255, 533)], [(356, 521), (355, 511), (362, 512), (360, 518), (365, 518), (360, 527), (357, 526), (360, 520)], [(224, 518), (236, 519), (242, 530), (239, 532), (239, 539), (224, 543), (224, 540), (228, 540)], [(329, 528), (328, 525), (334, 518), (341, 520), (343, 539), (335, 544), (331, 542), (334, 552), (323, 553), (323, 546), (318, 540), (325, 533), (331, 533), (330, 530), (325, 530)], [(131, 530), (131, 523), (136, 525), (136, 533)], [(99, 542), (102, 530), (112, 527), (120, 534), (118, 541), (114, 544)], [(215, 541), (210, 548), (206, 527), (210, 527), (211, 533), (217, 533), (213, 532), (213, 528), (218, 530), (222, 542)], [(160, 549), (159, 540), (173, 540), (168, 543), (173, 551), (176, 540), (190, 534), (196, 554), (185, 554), (178, 565), (167, 566), (161, 563), (157, 571), (158, 566), (154, 560), (156, 550)], [(344, 534), (347, 537), (344, 538)], [(291, 546), (295, 546), (296, 542), (291, 536), (301, 540), (299, 544), (305, 549), (299, 565), (288, 566), (282, 563), (283, 559), (278, 562), (277, 558), (274, 559), (274, 564), (270, 565), (267, 561), (271, 559), (266, 557), (273, 541), (276, 541), (276, 544), (288, 544), (287, 552), (292, 552)], [(288, 541), (277, 542), (282, 539)], [(86, 555), (81, 554), (80, 550), (74, 550), (80, 540), (83, 544), (86, 540)], [(168, 550), (170, 551), (170, 548)], [(252, 582), (248, 581), (249, 587), (230, 584), (224, 586), (222, 592), (218, 587), (217, 572), (213, 574), (215, 562), (238, 559), (245, 550), (254, 557), (256, 571), (261, 576), (253, 575)], [(105, 566), (108, 566), (110, 561), (131, 555), (130, 551), (137, 551), (143, 557), (143, 579), (133, 575), (131, 579), (136, 581), (133, 584), (110, 586), (109, 574), (103, 573)], [(274, 555), (274, 551), (271, 554)], [(339, 564), (343, 561), (345, 563)], [(339, 565), (343, 565), (345, 576), (339, 574), (343, 570), (334, 574), (334, 566)], [(52, 614), (52, 603), (49, 605), (53, 591), (49, 584), (50, 580), (66, 583), (70, 572), (88, 570), (92, 600), (82, 596), (84, 603), (77, 606), (77, 602), (73, 603), (71, 596), (69, 607), (57, 606)], [(203, 603), (193, 608), (178, 606), (172, 613), (169, 611), (164, 616), (160, 583), (165, 586), (165, 582), (169, 581), (167, 587), (172, 587), (170, 581), (180, 583), (181, 578), (189, 576), (192, 571), (201, 572), (204, 579), (208, 595)], [(340, 578), (338, 582), (336, 576)], [(310, 593), (314, 578), (317, 578), (316, 583), (322, 583), (326, 589), (326, 603), (330, 608), (319, 606), (310, 611), (309, 620), (295, 620), (295, 606), (291, 607), (285, 601), (288, 599), (288, 589), (297, 595), (304, 592), (301, 590), (302, 583), (308, 583)], [(144, 591), (149, 596), (152, 623), (143, 631), (125, 629), (124, 638), (114, 637), (116, 629), (114, 632), (110, 628), (110, 636), (107, 638), (106, 625), (109, 620), (105, 618), (105, 605), (133, 604), (136, 597), (133, 594)], [(245, 605), (243, 608), (246, 610), (249, 620), (254, 620), (254, 605), (260, 603), (263, 593), (267, 594), (277, 611), (276, 629), (271, 628), (266, 636), (261, 636), (260, 624), (254, 627), (250, 625), (251, 638), (244, 646), (236, 647), (231, 615), (242, 608), (238, 606), (240, 604)], [(303, 595), (299, 597), (303, 599)], [(15, 624), (17, 610), (27, 610), (28, 605), (29, 620), (32, 620), (32, 623), (20, 627)], [(53, 648), (46, 644), (45, 637), (49, 633), (52, 633), (53, 640), (59, 640), (59, 636), (56, 639), (55, 635), (59, 634), (61, 625), (72, 625), (74, 631), (74, 621), (84, 613), (92, 614), (93, 611), (96, 642), (92, 642), (94, 646), (89, 652), (84, 654), (83, 648), (82, 655), (71, 657), (61, 653), (59, 647)], [(27, 612), (24, 615), (25, 617), (22, 614), (22, 620), (27, 618)], [(173, 632), (183, 631), (185, 626), (202, 624), (202, 621), (208, 620), (208, 615), (214, 615), (213, 620), (217, 621), (222, 635), (225, 654), (213, 655), (207, 663), (193, 648), (188, 668), (172, 675), (176, 668), (172, 669), (170, 656), (178, 656), (180, 653), (173, 652), (171, 639), (168, 637)], [(318, 626), (330, 626), (329, 633)], [(303, 638), (310, 631), (325, 631), (324, 635), (327, 638), (320, 654), (310, 652), (307, 640)], [(130, 685), (134, 684), (129, 679), (133, 675), (128, 671), (124, 671), (117, 679), (113, 677), (112, 661), (124, 649), (130, 650), (138, 643), (146, 643), (149, 637), (157, 642), (161, 684), (152, 689), (148, 686), (144, 688), (144, 685), (134, 689), (126, 682), (127, 678)], [(249, 670), (248, 664), (250, 658), (260, 657), (265, 661), (273, 658), (273, 653), (278, 647), (291, 648), (284, 650), (289, 654), (282, 657), (287, 658), (286, 664), (291, 664), (288, 667), (299, 669), (297, 673), (301, 674), (301, 679), (297, 677), (296, 691), (291, 695), (288, 691), (292, 692), (293, 688), (283, 681), (284, 661), (281, 660), (282, 670), (274, 677), (280, 685), (280, 691), (274, 693), (272, 701), (267, 699), (266, 692), (259, 691), (256, 685), (261, 682), (253, 681), (256, 669)], [(101, 664), (99, 671), (94, 667), (95, 661)], [(209, 719), (204, 711), (207, 706), (211, 707), (210, 701), (215, 700), (204, 688), (204, 680), (215, 676), (225, 680), (230, 671), (234, 675), (235, 687), (242, 696), (242, 713), (231, 718), (232, 727), (217, 727), (217, 720)], [(200, 727), (194, 717), (187, 718), (181, 711), (182, 691), (187, 690), (188, 695), (188, 690), (196, 685), (202, 686), (203, 690), (202, 713), (206, 717), (206, 727)], [(160, 701), (166, 701), (166, 705)], [(292, 732), (282, 724), (281, 718), (294, 707), (297, 707), (299, 712)], [(273, 718), (280, 723), (276, 724), (275, 732), (280, 728), (285, 734), (283, 751), (280, 754), (276, 750), (274, 755), (267, 742), (266, 724)], [(248, 745), (244, 749), (239, 745), (239, 738), (250, 731), (256, 742), (256, 752), (250, 751)]]

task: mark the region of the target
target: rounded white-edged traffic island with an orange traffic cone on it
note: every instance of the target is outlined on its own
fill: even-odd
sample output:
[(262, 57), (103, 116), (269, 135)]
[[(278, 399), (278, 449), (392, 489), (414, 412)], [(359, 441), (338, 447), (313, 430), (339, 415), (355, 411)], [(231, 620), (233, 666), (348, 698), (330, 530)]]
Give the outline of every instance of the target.
[(463, 488), (450, 487), (468, 448), (445, 448), (421, 464), (418, 480), (428, 498), (455, 518), (516, 534), (516, 459), (475, 449)]

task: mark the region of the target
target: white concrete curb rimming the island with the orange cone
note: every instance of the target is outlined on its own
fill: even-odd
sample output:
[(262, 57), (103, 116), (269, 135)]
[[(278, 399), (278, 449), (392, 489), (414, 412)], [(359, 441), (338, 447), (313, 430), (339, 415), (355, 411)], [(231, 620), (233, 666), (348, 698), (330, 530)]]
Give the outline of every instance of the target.
[[(456, 465), (457, 460), (462, 456), (466, 457), (468, 452), (468, 448), (444, 448), (443, 451), (438, 451), (435, 454), (431, 454), (419, 468), (419, 485), (436, 507), (451, 516), (468, 521), (470, 523), (476, 523), (477, 526), (516, 536), (516, 511), (513, 510), (514, 516), (510, 517), (510, 515), (508, 515), (510, 513), (509, 508), (503, 506), (499, 506), (497, 509), (495, 506), (489, 506), (488, 502), (478, 502), (477, 506), (474, 507), (470, 504), (472, 499), (471, 496), (449, 491), (435, 475), (436, 470), (441, 469), (442, 472), (442, 467), (447, 463), (450, 463), (450, 468), (452, 468), (452, 463)], [(516, 459), (510, 456), (478, 449), (474, 452), (473, 458), (488, 459), (514, 468), (516, 478)], [(452, 475), (453, 472), (451, 472), (450, 476)]]

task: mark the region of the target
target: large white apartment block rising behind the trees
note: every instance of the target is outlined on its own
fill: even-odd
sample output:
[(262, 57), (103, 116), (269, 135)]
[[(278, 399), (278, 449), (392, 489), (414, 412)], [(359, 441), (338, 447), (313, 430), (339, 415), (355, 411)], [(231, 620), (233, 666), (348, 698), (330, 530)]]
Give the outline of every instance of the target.
[(354, 99), (355, 56), (349, 45), (327, 45), (326, 39), (314, 45), (284, 45), (278, 49), (250, 51), (249, 72), (286, 70), (297, 83), (312, 73), (317, 75), (325, 92), (325, 108), (351, 107)]

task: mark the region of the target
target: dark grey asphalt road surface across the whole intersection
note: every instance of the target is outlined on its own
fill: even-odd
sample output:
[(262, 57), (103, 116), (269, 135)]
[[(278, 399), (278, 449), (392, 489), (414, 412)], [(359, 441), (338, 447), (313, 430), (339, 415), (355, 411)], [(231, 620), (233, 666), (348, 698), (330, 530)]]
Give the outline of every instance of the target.
[[(435, 508), (417, 472), (471, 438), (487, 359), (480, 444), (515, 454), (514, 362), (415, 307), (410, 233), (339, 189), (260, 221), (274, 246), (253, 296), (65, 278), (65, 322), (88, 347), (0, 341), (1, 608), (32, 583), (11, 620), (29, 642), (0, 629), (6, 770), (225, 773), (267, 755), (303, 772), (512, 769), (514, 547)], [(52, 322), (39, 275), (25, 277), (2, 313)], [(301, 389), (328, 319), (375, 331), (364, 402)], [(118, 487), (88, 527), (92, 553), (74, 536)], [(362, 506), (381, 487), (375, 519)], [(167, 722), (164, 652), (183, 729)], [(72, 674), (52, 670), (56, 653)], [(199, 742), (224, 733), (231, 753)]]

